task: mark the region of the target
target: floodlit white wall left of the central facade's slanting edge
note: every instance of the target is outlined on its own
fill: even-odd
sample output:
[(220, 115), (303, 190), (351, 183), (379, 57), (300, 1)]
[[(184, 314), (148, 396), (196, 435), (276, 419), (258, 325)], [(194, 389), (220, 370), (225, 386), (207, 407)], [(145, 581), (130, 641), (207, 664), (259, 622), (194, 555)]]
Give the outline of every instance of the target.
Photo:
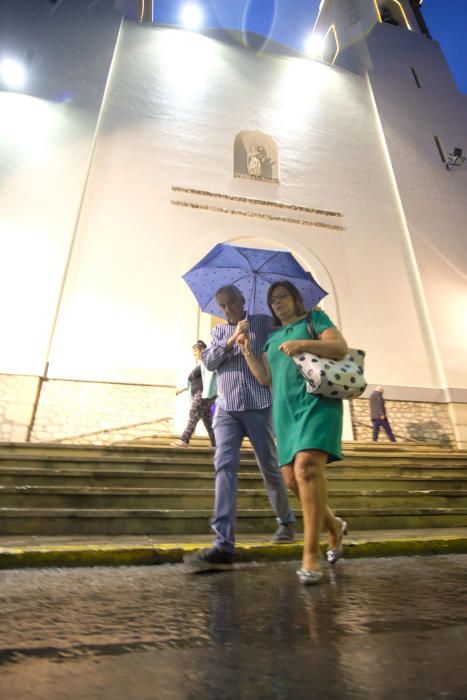
[(113, 0), (1, 14), (2, 58), (30, 62), (23, 92), (0, 83), (0, 372), (40, 374), (121, 18)]

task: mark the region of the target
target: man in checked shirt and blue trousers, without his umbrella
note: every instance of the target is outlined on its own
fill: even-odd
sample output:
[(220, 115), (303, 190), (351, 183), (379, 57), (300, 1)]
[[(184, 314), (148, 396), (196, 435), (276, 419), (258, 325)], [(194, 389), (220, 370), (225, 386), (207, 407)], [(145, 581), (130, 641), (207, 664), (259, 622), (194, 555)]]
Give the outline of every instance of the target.
[(262, 473), (266, 492), (274, 510), (278, 528), (276, 543), (292, 542), (292, 523), (287, 488), (279, 469), (271, 417), (271, 392), (258, 384), (243, 357), (237, 341), (248, 335), (251, 347), (259, 352), (271, 330), (267, 315), (248, 319), (245, 299), (235, 285), (221, 287), (216, 300), (227, 323), (213, 328), (211, 344), (202, 352), (203, 364), (216, 371), (218, 398), (214, 417), (216, 452), (214, 466), (215, 500), (211, 527), (216, 537), (213, 546), (188, 555), (186, 563), (197, 569), (227, 569), (235, 551), (237, 508), (237, 472), (243, 438), (249, 438)]

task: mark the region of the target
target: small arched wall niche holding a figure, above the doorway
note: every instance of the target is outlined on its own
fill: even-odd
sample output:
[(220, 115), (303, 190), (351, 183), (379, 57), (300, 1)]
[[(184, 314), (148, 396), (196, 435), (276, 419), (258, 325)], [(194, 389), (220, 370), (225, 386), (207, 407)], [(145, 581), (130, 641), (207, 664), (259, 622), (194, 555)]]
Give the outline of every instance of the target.
[(274, 139), (261, 131), (240, 131), (234, 140), (234, 177), (279, 182), (279, 161)]

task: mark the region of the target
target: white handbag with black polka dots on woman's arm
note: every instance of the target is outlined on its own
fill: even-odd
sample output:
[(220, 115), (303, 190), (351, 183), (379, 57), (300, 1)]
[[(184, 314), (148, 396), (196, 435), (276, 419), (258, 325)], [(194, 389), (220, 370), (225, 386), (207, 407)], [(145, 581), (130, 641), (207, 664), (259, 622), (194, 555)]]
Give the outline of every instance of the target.
[[(307, 328), (310, 336), (316, 338), (310, 321)], [(328, 399), (356, 399), (365, 391), (363, 350), (349, 348), (342, 360), (318, 357), (311, 352), (300, 352), (293, 356), (293, 360), (310, 394)]]

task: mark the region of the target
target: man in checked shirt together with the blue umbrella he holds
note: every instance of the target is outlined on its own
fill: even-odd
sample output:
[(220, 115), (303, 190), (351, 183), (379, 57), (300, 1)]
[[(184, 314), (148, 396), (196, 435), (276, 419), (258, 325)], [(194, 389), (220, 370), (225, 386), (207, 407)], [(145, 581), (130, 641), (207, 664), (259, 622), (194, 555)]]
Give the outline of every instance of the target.
[[(297, 286), (307, 308), (326, 292), (293, 255), (283, 250), (217, 244), (183, 279), (201, 309), (225, 316), (216, 326), (211, 345), (202, 352), (204, 366), (217, 374), (217, 409), (213, 428), (216, 438), (213, 546), (189, 555), (187, 563), (198, 569), (226, 569), (233, 563), (237, 507), (237, 471), (243, 438), (249, 438), (263, 476), (278, 529), (277, 543), (293, 541), (295, 516), (278, 466), (272, 427), (272, 395), (251, 373), (238, 341), (249, 335), (253, 352), (261, 355), (272, 329), (267, 291), (273, 282), (288, 279)], [(246, 307), (246, 309), (245, 309)]]

